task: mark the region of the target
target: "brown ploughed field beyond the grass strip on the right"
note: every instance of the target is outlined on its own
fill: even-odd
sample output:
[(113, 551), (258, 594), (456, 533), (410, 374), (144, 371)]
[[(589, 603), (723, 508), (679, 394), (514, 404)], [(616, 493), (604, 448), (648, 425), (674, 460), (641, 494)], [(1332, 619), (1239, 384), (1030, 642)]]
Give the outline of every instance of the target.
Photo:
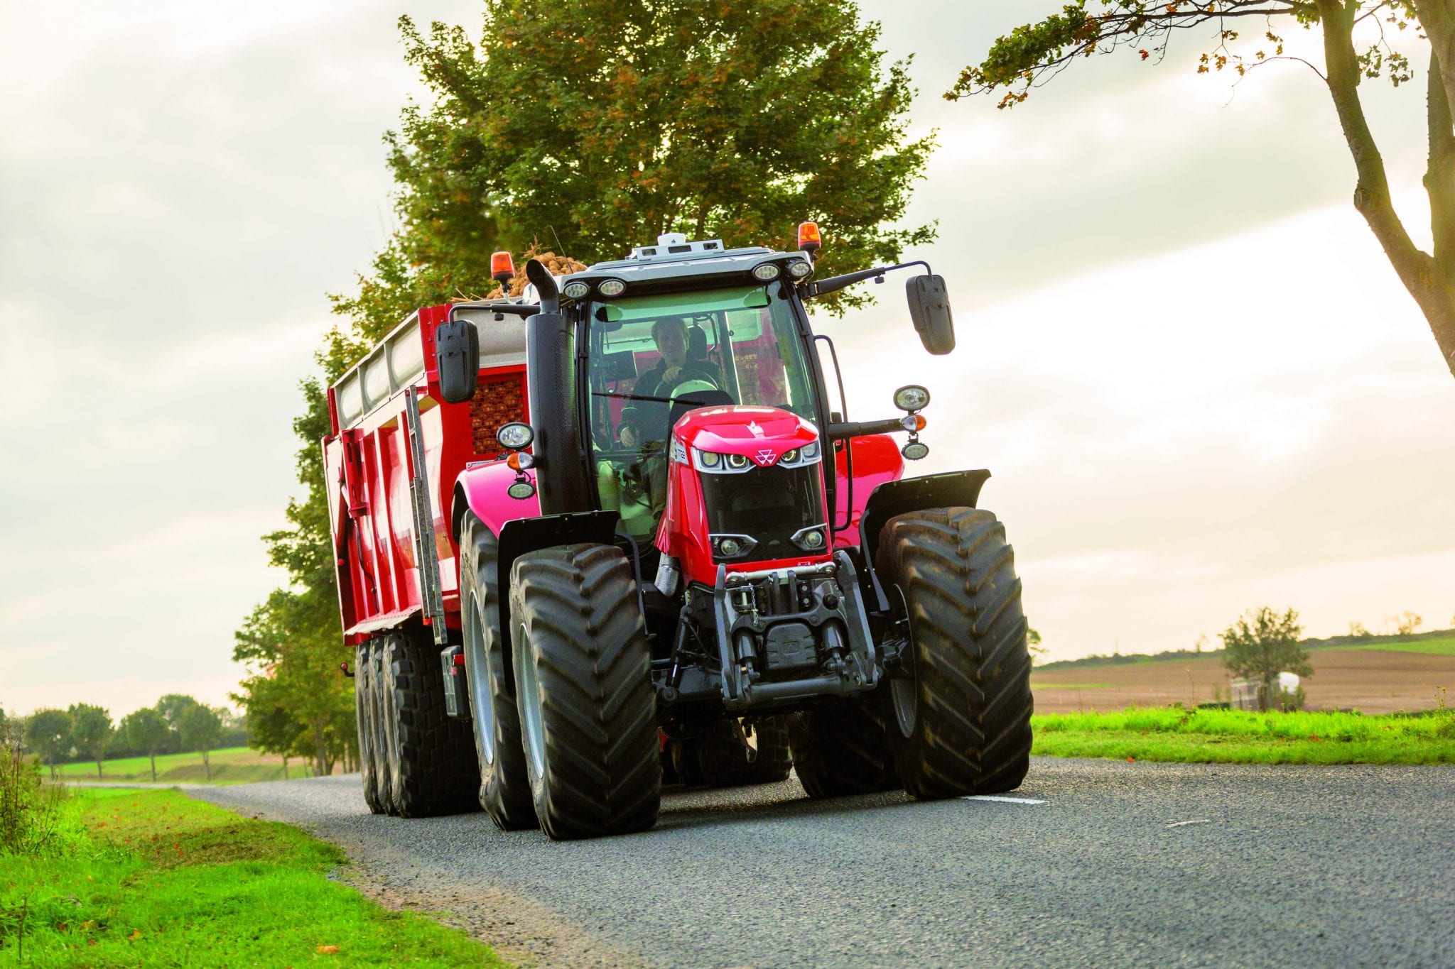
[[(1365, 713), (1426, 710), (1439, 689), (1455, 705), (1455, 636), (1368, 648), (1312, 649), (1304, 678), (1308, 708)], [(1128, 706), (1197, 706), (1228, 697), (1222, 657), (1195, 655), (1120, 665), (1037, 668), (1030, 674), (1039, 713), (1120, 710)]]

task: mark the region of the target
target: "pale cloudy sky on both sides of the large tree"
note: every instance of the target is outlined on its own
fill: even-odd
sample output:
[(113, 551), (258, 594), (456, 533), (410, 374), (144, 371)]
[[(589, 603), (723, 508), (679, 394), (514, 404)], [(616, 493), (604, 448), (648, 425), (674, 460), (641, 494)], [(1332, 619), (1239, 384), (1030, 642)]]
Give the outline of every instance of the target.
[[(854, 417), (931, 386), (921, 469), (992, 469), (1055, 658), (1190, 646), (1260, 604), (1311, 635), (1451, 625), (1455, 381), (1349, 205), (1318, 78), (1197, 77), (1186, 38), (1013, 112), (938, 97), (1056, 6), (863, 4), (938, 129), (909, 221), (940, 240), (912, 256), (947, 276), (959, 349), (920, 350), (899, 286), (824, 321)], [(466, 0), (0, 0), (4, 709), (236, 684), (233, 629), (282, 581), (258, 536), (298, 491), (326, 293), (391, 225), (406, 9), (479, 23)], [(1417, 237), (1423, 93), (1365, 92)]]

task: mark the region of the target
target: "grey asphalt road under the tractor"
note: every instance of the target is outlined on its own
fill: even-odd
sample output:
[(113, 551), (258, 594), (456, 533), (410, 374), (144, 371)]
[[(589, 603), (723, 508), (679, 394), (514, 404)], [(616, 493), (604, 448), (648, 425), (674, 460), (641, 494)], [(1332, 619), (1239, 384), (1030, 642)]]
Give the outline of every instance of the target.
[(674, 790), (655, 831), (576, 843), (372, 816), (356, 777), (191, 793), (546, 965), (1455, 966), (1455, 767), (1036, 758), (1011, 796), (1043, 803), (789, 780)]

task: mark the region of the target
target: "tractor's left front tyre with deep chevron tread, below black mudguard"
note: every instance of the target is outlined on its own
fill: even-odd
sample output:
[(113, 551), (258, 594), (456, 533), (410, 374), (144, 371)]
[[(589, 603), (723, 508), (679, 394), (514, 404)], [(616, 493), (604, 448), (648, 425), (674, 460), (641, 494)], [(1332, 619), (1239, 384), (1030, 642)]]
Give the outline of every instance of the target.
[(521, 555), (511, 631), (541, 828), (556, 840), (650, 828), (662, 799), (656, 694), (626, 555), (610, 545)]

